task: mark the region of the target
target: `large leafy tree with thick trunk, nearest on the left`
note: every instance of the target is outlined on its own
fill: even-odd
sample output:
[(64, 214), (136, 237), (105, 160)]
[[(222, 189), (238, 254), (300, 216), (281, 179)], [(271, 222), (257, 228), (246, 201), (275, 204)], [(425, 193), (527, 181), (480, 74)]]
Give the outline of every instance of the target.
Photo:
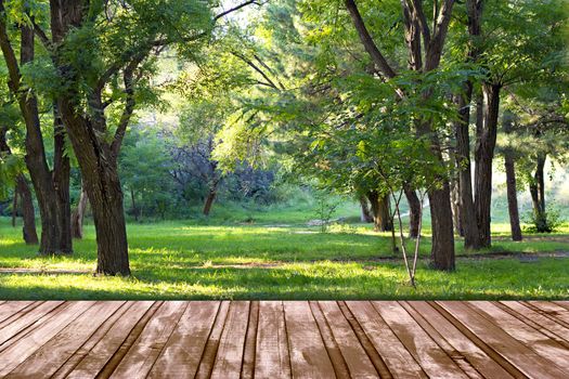
[[(130, 119), (147, 100), (152, 56), (191, 51), (211, 29), (198, 1), (50, 1), (57, 109), (74, 147), (96, 230), (96, 272), (129, 275), (118, 156)], [(46, 32), (36, 26), (40, 36)], [(112, 115), (118, 115), (112, 117)]]

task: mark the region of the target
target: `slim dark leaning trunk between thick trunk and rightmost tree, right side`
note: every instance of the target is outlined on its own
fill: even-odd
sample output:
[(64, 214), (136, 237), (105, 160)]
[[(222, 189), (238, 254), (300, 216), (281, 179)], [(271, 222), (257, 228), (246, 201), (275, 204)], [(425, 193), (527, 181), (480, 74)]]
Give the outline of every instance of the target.
[[(512, 117), (504, 115), (504, 132), (509, 134), (512, 132)], [(509, 227), (512, 230), (512, 239), (521, 240), (521, 227), (519, 224), (519, 210), (518, 210), (518, 191), (516, 187), (516, 167), (515, 156), (512, 147), (504, 149), (504, 167), (506, 171), (506, 193), (507, 193), (507, 207), (509, 212)]]

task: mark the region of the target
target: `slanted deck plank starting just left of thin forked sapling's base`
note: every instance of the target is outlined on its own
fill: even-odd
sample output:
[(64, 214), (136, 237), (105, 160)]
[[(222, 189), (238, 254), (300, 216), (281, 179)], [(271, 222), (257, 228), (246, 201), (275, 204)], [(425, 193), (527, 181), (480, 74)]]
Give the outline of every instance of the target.
[(372, 304), (430, 378), (467, 378), (399, 303), (373, 301)]

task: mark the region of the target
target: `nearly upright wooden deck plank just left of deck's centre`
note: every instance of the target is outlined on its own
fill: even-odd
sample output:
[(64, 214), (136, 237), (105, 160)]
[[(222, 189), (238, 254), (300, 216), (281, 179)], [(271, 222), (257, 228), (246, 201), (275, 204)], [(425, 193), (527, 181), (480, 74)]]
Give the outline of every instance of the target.
[(290, 357), (282, 301), (261, 301), (255, 376), (258, 378), (290, 378)]

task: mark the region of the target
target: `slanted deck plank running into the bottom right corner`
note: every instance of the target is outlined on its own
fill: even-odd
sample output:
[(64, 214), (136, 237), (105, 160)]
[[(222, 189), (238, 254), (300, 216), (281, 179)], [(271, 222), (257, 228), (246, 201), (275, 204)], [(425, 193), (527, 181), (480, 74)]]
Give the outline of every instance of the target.
[(565, 374), (558, 367), (540, 357), (530, 348), (490, 323), (487, 318), (473, 312), (465, 303), (438, 301), (437, 304), (526, 376), (535, 378), (565, 377)]

